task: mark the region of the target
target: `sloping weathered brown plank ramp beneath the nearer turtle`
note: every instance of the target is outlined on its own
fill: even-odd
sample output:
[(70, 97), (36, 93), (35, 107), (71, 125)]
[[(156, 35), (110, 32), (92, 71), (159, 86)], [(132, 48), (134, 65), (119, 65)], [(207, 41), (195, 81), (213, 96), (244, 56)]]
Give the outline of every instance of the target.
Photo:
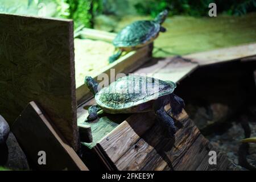
[[(175, 140), (169, 140), (162, 136), (153, 113), (131, 115), (97, 143), (96, 151), (114, 170), (228, 169), (228, 160), (200, 134), (184, 110), (176, 119), (179, 130)], [(218, 155), (215, 166), (208, 163), (211, 150)]]

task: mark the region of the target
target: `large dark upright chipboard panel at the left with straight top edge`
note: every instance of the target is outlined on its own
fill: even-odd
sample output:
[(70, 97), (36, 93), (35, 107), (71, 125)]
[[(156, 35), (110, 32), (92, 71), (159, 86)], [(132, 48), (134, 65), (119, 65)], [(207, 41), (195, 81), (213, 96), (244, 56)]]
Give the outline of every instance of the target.
[(72, 20), (0, 14), (0, 114), (37, 101), (78, 148)]

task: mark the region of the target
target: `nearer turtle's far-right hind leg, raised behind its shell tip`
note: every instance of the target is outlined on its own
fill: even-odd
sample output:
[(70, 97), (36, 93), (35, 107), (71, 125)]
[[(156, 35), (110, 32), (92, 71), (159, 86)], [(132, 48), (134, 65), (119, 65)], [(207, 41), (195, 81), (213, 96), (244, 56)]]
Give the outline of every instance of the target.
[(185, 103), (182, 98), (176, 96), (174, 93), (170, 94), (170, 105), (171, 105), (171, 113), (173, 115), (179, 115), (183, 108), (185, 107)]

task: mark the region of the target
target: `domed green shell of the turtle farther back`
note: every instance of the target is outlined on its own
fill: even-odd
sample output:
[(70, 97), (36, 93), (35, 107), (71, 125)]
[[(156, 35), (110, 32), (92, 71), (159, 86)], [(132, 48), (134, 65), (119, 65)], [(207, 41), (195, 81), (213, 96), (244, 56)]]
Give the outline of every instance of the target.
[(154, 39), (160, 31), (160, 24), (154, 20), (141, 20), (123, 28), (115, 39), (115, 47), (136, 47)]

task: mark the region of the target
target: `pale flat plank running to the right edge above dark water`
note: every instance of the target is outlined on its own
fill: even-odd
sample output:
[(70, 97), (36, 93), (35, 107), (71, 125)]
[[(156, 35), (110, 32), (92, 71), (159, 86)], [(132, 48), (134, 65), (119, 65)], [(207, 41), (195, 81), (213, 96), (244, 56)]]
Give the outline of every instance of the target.
[(185, 59), (191, 59), (200, 66), (225, 63), (242, 59), (243, 57), (251, 57), (256, 55), (256, 43), (245, 44), (242, 46), (215, 49), (213, 51), (193, 53), (183, 56)]

